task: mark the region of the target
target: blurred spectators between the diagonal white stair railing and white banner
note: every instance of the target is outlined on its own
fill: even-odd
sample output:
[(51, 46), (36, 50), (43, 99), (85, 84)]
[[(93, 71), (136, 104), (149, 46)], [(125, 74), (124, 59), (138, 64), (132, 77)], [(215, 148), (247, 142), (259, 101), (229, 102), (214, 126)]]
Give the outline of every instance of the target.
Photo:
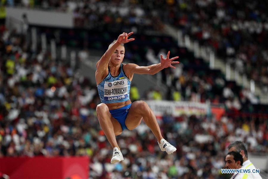
[[(166, 68), (161, 71), (161, 75), (159, 74), (162, 81), (169, 87), (166, 96), (162, 94), (166, 99), (202, 103), (209, 101), (213, 104), (224, 104), (226, 111), (257, 112), (249, 109), (252, 108), (252, 104), (259, 103), (258, 96), (255, 96), (249, 89), (239, 87), (235, 82), (226, 81), (220, 71), (210, 70), (202, 59), (195, 58), (186, 49), (172, 46), (170, 48), (173, 55), (180, 56), (180, 63), (175, 65), (176, 69)], [(162, 49), (158, 55), (155, 55), (154, 50), (148, 50), (145, 55), (148, 65), (159, 63), (158, 56), (166, 53)], [(147, 98), (157, 99), (150, 93)]]

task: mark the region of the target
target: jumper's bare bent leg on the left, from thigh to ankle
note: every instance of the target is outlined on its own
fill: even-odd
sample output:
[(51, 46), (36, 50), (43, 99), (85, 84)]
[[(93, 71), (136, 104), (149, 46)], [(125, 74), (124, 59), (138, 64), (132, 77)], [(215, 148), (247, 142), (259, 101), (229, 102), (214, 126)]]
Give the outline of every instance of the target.
[(122, 133), (121, 125), (116, 119), (112, 117), (106, 104), (101, 103), (97, 105), (96, 113), (97, 118), (100, 122), (100, 126), (109, 143), (113, 148), (117, 147), (120, 150), (119, 146), (117, 145), (115, 136)]

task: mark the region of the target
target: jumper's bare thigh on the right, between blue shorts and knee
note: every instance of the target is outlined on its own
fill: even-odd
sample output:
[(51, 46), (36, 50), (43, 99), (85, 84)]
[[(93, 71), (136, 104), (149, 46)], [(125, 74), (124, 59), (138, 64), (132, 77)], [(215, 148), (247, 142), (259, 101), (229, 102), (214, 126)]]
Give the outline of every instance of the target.
[(142, 121), (142, 115), (140, 114), (139, 104), (140, 101), (133, 102), (128, 111), (125, 124), (129, 130), (135, 129)]

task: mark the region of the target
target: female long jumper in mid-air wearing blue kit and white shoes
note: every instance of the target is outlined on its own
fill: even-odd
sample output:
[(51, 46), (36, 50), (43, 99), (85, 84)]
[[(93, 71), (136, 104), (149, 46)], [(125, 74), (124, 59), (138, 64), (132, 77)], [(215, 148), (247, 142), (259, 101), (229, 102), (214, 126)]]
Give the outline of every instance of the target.
[(120, 34), (96, 64), (95, 78), (102, 102), (97, 105), (96, 112), (100, 126), (114, 149), (111, 163), (124, 160), (115, 136), (120, 135), (124, 129), (136, 128), (142, 119), (154, 133), (162, 151), (168, 154), (176, 151), (176, 148), (162, 137), (156, 117), (148, 104), (144, 101), (131, 103), (129, 90), (135, 73), (154, 75), (164, 68), (175, 68), (172, 64), (179, 62), (173, 60), (179, 57), (169, 58), (170, 52), (168, 52), (166, 58), (160, 55), (160, 63), (148, 67), (122, 64), (125, 55), (124, 44), (135, 40), (134, 38), (128, 39), (132, 34), (133, 32)]

